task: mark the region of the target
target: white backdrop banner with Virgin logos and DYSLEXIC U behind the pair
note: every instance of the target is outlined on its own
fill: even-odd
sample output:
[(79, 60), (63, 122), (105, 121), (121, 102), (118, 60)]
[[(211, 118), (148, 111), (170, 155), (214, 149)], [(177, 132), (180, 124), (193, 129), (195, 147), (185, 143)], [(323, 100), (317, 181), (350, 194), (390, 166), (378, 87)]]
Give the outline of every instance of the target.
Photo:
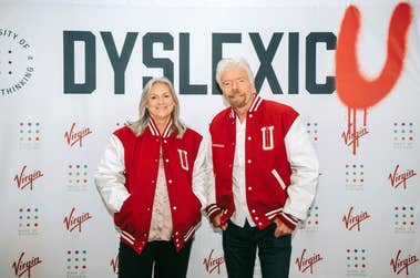
[[(294, 106), (319, 189), (290, 277), (420, 277), (420, 1), (0, 1), (0, 277), (113, 278), (119, 235), (93, 175), (112, 132), (165, 75), (202, 134), (244, 56)], [(227, 277), (204, 218), (188, 277)], [(260, 277), (259, 264), (255, 277)]]

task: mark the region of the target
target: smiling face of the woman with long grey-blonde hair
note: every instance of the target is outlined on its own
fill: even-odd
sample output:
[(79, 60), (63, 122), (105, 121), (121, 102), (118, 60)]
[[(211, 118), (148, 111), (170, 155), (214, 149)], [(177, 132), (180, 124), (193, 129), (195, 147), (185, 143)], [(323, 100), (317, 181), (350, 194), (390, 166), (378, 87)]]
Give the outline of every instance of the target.
[(154, 121), (168, 121), (175, 102), (170, 86), (164, 83), (152, 85), (146, 103), (147, 111)]

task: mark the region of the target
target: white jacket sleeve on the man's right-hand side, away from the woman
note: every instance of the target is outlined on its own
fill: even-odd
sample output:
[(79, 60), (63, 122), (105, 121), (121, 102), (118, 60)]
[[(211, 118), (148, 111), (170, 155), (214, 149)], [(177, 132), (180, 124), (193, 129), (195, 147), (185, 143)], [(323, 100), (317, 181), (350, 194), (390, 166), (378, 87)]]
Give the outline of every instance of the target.
[(291, 175), (283, 213), (305, 220), (316, 195), (319, 165), (313, 142), (306, 133), (300, 116), (287, 132), (285, 144)]

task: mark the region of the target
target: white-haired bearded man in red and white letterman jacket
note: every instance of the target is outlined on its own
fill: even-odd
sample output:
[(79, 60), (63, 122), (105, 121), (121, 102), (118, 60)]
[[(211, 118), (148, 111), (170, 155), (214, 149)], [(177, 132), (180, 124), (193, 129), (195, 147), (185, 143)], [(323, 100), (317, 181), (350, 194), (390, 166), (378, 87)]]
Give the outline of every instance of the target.
[(291, 234), (306, 218), (318, 159), (291, 107), (263, 100), (244, 59), (218, 62), (216, 81), (231, 107), (209, 125), (214, 184), (206, 213), (223, 230), (228, 277), (288, 277)]

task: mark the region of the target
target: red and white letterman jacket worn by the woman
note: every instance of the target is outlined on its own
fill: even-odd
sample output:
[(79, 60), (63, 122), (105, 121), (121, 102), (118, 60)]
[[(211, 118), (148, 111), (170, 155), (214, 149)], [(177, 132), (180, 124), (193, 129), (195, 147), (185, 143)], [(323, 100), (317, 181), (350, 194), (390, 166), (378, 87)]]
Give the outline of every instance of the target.
[(180, 251), (194, 236), (205, 204), (202, 135), (187, 128), (182, 138), (176, 138), (172, 122), (161, 135), (152, 119), (140, 136), (124, 126), (112, 135), (95, 175), (98, 191), (114, 215), (121, 241), (137, 254), (147, 244), (161, 146), (173, 222), (172, 237)]

